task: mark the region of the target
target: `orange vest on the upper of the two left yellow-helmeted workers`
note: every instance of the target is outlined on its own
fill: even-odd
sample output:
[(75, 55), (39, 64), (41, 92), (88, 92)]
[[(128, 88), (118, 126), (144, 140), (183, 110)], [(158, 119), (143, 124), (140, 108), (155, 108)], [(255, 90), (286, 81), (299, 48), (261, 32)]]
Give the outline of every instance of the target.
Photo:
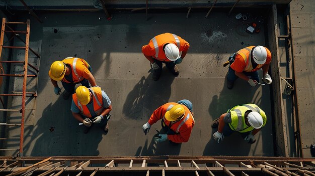
[[(87, 67), (87, 68), (90, 67), (90, 65), (87, 61), (85, 61), (84, 59), (80, 59), (80, 58), (67, 57), (67, 58), (63, 59), (62, 62), (71, 67), (73, 83), (78, 83), (84, 79), (83, 76), (81, 76), (77, 73), (77, 69), (80, 70), (82, 67)], [(65, 79), (65, 77), (63, 77), (61, 81), (66, 82), (66, 83), (70, 83), (69, 81), (67, 81)]]

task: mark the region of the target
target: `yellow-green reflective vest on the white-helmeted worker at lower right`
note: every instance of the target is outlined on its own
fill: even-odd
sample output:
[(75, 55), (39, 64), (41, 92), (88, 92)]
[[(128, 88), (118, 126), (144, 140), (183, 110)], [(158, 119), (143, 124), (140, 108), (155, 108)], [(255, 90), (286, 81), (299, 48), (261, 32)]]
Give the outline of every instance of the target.
[(248, 110), (260, 113), (264, 121), (263, 126), (265, 126), (267, 116), (262, 109), (260, 109), (256, 104), (242, 104), (234, 106), (233, 108), (227, 110), (227, 112), (231, 113), (232, 122), (229, 123), (228, 125), (232, 130), (239, 132), (248, 132), (253, 131), (255, 129), (253, 126), (248, 126), (245, 123), (245, 112)]

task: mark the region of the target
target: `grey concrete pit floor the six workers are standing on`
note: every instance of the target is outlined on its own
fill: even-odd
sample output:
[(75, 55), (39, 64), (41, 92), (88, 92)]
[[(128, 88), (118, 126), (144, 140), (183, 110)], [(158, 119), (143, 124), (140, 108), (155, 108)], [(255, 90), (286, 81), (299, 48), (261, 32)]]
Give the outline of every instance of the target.
[[(21, 21), (31, 19), (30, 46), (41, 42), (36, 112), (30, 120), (32, 125), (25, 127), (24, 156), (274, 155), (269, 85), (252, 88), (239, 79), (228, 90), (227, 67), (222, 67), (233, 52), (250, 45), (265, 45), (263, 30), (250, 35), (244, 32), (246, 22), (236, 20), (235, 14), (228, 18), (225, 13), (212, 13), (209, 19), (204, 18), (204, 13), (192, 13), (189, 19), (186, 13), (149, 14), (148, 21), (145, 14), (119, 13), (113, 14), (111, 22), (99, 20), (104, 16), (102, 12), (39, 15), (43, 24), (28, 15), (21, 17)], [(141, 47), (166, 32), (181, 36), (191, 48), (178, 65), (178, 77), (164, 69), (155, 82)], [(84, 134), (71, 115), (71, 100), (63, 100), (53, 92), (48, 77), (50, 65), (68, 56), (87, 60), (97, 84), (112, 100), (107, 135), (99, 128)], [(60, 83), (59, 86), (62, 87)], [(196, 123), (190, 140), (178, 146), (154, 143), (154, 129), (160, 130), (160, 123), (152, 125), (146, 136), (142, 125), (157, 107), (181, 99), (193, 103)], [(211, 129), (212, 121), (244, 103), (255, 103), (267, 114), (267, 124), (256, 135), (257, 142), (247, 144), (234, 133), (216, 143), (212, 139), (216, 132)], [(10, 130), (9, 136), (18, 135), (18, 128)]]

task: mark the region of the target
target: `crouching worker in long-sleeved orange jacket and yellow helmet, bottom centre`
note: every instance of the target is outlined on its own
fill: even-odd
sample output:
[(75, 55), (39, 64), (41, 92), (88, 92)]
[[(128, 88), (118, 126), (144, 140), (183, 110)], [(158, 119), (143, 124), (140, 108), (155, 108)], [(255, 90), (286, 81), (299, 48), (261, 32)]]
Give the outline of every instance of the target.
[(146, 135), (151, 125), (162, 119), (162, 128), (166, 134), (158, 134), (154, 137), (155, 141), (187, 142), (195, 124), (192, 109), (193, 105), (189, 100), (166, 103), (152, 113), (148, 122), (142, 126), (142, 130)]

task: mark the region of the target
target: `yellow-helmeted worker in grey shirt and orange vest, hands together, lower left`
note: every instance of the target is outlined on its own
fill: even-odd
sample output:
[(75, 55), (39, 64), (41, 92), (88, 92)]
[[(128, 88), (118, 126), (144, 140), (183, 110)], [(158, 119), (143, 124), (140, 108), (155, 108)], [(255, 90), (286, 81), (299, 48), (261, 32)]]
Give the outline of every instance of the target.
[(92, 124), (97, 124), (107, 133), (111, 110), (111, 100), (100, 87), (78, 86), (72, 95), (72, 115), (87, 127), (85, 133)]

